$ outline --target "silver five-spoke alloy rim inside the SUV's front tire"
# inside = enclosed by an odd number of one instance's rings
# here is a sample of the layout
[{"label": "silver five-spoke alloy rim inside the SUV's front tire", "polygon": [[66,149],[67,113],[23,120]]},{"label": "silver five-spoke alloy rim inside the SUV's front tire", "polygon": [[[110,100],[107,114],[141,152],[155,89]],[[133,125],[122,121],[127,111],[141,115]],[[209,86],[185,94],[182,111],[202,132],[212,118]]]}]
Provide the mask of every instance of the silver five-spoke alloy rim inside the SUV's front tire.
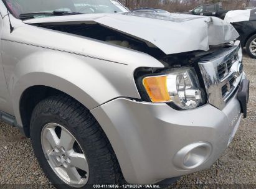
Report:
[{"label": "silver five-spoke alloy rim inside the SUV's front tire", "polygon": [[45,124],[41,144],[50,167],[62,181],[72,187],[83,187],[88,182],[85,153],[65,127],[53,122]]}]

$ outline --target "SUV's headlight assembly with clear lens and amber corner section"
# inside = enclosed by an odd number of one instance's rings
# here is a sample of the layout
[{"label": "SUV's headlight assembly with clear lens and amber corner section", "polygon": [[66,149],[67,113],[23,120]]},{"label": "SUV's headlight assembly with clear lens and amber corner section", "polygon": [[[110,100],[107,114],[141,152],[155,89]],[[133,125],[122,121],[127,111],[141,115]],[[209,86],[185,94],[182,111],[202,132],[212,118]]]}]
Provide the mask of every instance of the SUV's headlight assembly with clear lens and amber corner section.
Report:
[{"label": "SUV's headlight assembly with clear lens and amber corner section", "polygon": [[192,109],[206,101],[194,68],[174,68],[164,75],[146,76],[143,86],[154,103],[173,103],[180,109]]}]

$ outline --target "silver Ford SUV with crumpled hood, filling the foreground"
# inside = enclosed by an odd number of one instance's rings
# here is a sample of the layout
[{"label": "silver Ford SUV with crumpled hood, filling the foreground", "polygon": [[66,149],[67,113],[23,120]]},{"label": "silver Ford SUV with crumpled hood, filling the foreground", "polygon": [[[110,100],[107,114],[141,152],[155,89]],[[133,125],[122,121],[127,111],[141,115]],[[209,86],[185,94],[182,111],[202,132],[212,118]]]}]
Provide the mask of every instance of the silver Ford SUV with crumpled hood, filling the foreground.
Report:
[{"label": "silver Ford SUV with crumpled hood, filling the foreground", "polygon": [[209,168],[246,117],[239,35],[115,0],[0,2],[0,117],[59,188]]}]

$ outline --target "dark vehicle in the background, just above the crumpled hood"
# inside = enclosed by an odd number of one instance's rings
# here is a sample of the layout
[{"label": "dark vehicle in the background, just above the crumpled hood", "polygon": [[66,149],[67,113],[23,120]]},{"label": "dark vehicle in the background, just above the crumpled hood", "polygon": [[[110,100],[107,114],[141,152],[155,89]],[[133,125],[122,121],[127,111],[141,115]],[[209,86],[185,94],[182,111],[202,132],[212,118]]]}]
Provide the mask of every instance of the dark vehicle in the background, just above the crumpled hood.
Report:
[{"label": "dark vehicle in the background, just above the crumpled hood", "polygon": [[225,14],[227,13],[227,10],[222,9],[221,4],[204,4],[201,6],[198,6],[191,11],[189,11],[188,14],[194,14],[194,15],[201,15],[201,16],[216,16],[220,19],[224,19]]}]

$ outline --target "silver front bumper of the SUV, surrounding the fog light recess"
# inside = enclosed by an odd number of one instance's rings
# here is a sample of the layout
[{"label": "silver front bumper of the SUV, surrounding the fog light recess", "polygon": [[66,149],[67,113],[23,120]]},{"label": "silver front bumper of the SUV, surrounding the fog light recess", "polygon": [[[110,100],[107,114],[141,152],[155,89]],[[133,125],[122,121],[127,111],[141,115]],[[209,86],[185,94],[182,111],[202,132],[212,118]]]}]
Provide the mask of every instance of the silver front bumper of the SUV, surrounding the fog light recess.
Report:
[{"label": "silver front bumper of the SUV, surrounding the fog light recess", "polygon": [[[211,167],[232,141],[241,119],[237,94],[222,111],[210,104],[176,111],[165,103],[118,98],[91,112],[107,134],[126,181],[141,184]],[[176,154],[198,142],[210,146],[206,162],[189,169],[178,166]]]}]

